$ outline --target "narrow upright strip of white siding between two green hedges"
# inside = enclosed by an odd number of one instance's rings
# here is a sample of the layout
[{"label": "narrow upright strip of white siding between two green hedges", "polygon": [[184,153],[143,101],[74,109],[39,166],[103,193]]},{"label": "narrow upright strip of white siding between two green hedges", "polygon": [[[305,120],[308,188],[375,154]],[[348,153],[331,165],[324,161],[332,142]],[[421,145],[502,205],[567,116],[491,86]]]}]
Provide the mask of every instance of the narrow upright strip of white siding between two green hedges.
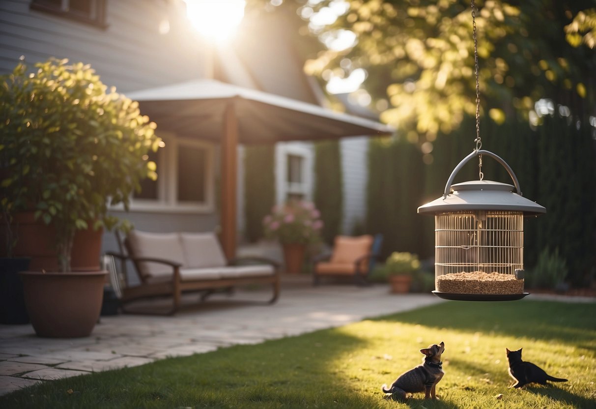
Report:
[{"label": "narrow upright strip of white siding between two green hedges", "polygon": [[364,222],[367,210],[368,138],[340,142],[343,173],[343,234],[351,234],[356,221]]}]

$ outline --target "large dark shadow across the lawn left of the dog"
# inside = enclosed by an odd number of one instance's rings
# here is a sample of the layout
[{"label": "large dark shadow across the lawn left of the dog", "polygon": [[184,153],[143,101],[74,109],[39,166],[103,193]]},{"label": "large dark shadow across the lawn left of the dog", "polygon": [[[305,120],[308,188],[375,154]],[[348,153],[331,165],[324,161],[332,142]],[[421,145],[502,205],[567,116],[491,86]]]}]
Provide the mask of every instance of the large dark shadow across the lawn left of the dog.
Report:
[{"label": "large dark shadow across the lawn left of the dog", "polygon": [[334,368],[366,344],[340,331],[316,331],[45,382],[0,396],[0,407],[378,407],[380,393],[353,388]]}]

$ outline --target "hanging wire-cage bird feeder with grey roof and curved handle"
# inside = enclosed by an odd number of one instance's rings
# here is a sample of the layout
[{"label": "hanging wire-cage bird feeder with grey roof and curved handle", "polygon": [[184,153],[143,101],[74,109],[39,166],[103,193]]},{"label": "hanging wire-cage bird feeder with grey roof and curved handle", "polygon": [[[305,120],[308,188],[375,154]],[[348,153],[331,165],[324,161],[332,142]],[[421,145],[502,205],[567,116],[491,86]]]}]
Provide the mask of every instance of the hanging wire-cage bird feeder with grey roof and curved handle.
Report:
[{"label": "hanging wire-cage bird feeder with grey roof and curved handle", "polygon": [[[452,184],[470,159],[490,156],[514,185],[482,179]],[[474,150],[449,176],[443,197],[418,207],[434,214],[435,286],[433,293],[451,300],[517,300],[524,292],[523,219],[545,213],[522,197],[510,166],[486,150]]]}]

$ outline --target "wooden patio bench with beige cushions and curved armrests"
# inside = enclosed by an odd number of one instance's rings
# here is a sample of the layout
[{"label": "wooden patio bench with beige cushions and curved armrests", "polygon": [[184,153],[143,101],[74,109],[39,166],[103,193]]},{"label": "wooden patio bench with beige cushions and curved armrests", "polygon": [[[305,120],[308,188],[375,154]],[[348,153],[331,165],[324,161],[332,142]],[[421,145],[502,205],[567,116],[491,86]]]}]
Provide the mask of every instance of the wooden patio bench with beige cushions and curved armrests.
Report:
[{"label": "wooden patio bench with beige cushions and curved armrests", "polygon": [[[269,303],[280,293],[280,269],[276,262],[259,257],[226,260],[213,233],[147,233],[132,230],[123,240],[121,253],[108,255],[125,265],[132,261],[141,283],[126,285],[120,303],[154,296],[172,296],[174,314],[181,308],[182,293],[203,292],[203,301],[221,289],[249,284],[271,284]],[[126,253],[126,254],[125,254]],[[258,264],[255,264],[258,263]],[[128,283],[128,280],[127,280]]]}]

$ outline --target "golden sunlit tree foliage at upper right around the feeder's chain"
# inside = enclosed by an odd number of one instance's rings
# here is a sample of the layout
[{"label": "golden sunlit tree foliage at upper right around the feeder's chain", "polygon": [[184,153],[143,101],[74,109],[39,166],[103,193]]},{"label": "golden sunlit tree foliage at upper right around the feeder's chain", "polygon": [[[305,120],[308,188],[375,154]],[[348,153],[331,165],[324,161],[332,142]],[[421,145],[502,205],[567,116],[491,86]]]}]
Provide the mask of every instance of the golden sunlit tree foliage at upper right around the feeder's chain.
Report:
[{"label": "golden sunlit tree foliage at upper right around the feeder's chain", "polygon": [[[331,2],[321,1],[315,9]],[[596,54],[572,47],[565,33],[570,24],[567,30],[576,33],[592,27],[593,15],[582,12],[590,6],[593,0],[478,1],[482,113],[496,123],[516,114],[527,121],[540,98],[570,106],[582,119],[592,112]],[[373,100],[388,103],[381,118],[409,132],[409,140],[434,141],[475,113],[470,2],[350,0],[349,11],[322,33],[338,29],[352,30],[355,45],[322,52],[306,68],[319,76],[326,70],[347,76],[366,69],[365,88]],[[586,43],[592,34],[593,29],[583,36]]]}]

